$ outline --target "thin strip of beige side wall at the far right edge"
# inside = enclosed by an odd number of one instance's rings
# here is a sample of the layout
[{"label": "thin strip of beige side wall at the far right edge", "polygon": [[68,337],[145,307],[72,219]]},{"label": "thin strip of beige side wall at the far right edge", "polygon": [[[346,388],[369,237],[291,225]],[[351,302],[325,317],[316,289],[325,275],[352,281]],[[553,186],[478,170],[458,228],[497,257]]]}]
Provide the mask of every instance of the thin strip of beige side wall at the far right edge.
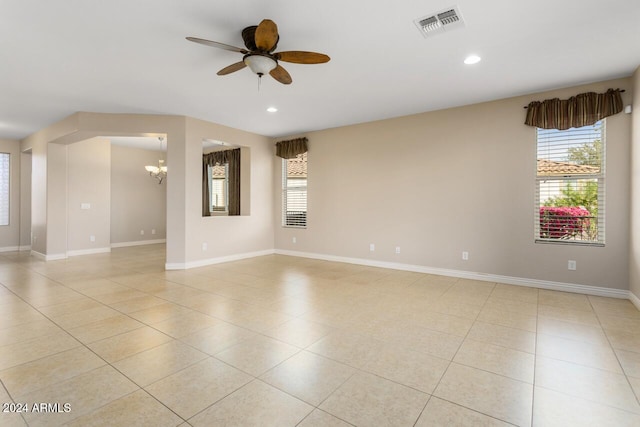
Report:
[{"label": "thin strip of beige side wall at the far right edge", "polygon": [[[633,99],[640,100],[640,67],[633,74]],[[633,105],[631,138],[631,228],[629,290],[640,308],[640,104]]]}]

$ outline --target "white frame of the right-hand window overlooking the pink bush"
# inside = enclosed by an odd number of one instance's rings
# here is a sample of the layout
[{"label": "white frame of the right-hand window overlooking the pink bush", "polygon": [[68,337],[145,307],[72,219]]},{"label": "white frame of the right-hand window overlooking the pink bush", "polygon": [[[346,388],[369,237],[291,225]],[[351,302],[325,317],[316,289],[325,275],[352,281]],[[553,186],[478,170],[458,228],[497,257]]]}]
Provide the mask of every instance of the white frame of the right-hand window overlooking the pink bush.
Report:
[{"label": "white frame of the right-hand window overlooking the pink bush", "polygon": [[[570,128],[567,130],[560,130],[557,132],[567,132],[566,141],[570,141],[571,137],[577,138],[583,132],[585,128],[593,129],[595,126],[600,126],[600,135],[598,137],[591,137],[592,143],[600,140],[600,165],[599,171],[597,173],[563,173],[561,175],[544,175],[540,174],[538,170],[538,161],[539,160],[549,160],[542,158],[540,156],[539,150],[541,145],[540,132],[541,131],[549,131],[548,129],[536,128],[536,173],[535,173],[535,200],[534,200],[534,242],[541,244],[559,244],[559,245],[577,245],[577,246],[594,246],[594,247],[604,247],[606,244],[606,235],[605,235],[605,201],[606,201],[606,119],[602,119],[596,122],[593,125],[583,126],[580,128]],[[569,134],[569,132],[576,132],[574,135]],[[586,132],[586,131],[585,131]],[[547,142],[549,143],[549,142]],[[564,143],[563,143],[564,144]],[[584,144],[586,145],[586,143]],[[582,146],[584,146],[582,145]],[[579,148],[579,144],[566,143],[567,150],[569,147]],[[570,163],[570,162],[567,162]],[[570,185],[570,183],[584,183],[585,187],[588,182],[596,182],[597,185],[597,209],[598,212],[592,219],[592,221],[597,221],[596,228],[596,239],[595,240],[581,240],[577,238],[552,238],[552,237],[541,237],[541,222],[540,222],[540,209],[545,206],[544,202],[541,201],[541,184],[546,182],[557,182],[558,188],[565,188],[566,185]],[[562,190],[560,190],[562,191]],[[577,206],[576,206],[577,207]],[[568,221],[568,220],[567,220]]]}]

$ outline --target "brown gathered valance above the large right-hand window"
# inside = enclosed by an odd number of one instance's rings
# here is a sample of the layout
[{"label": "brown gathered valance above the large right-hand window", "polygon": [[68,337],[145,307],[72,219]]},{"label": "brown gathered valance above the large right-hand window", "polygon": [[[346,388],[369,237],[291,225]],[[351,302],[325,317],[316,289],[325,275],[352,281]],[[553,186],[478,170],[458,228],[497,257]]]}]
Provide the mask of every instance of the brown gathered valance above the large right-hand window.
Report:
[{"label": "brown gathered valance above the large right-hand window", "polygon": [[533,101],[527,106],[524,124],[559,130],[589,126],[622,111],[620,92],[620,89],[609,89],[606,93],[587,92],[569,99]]}]

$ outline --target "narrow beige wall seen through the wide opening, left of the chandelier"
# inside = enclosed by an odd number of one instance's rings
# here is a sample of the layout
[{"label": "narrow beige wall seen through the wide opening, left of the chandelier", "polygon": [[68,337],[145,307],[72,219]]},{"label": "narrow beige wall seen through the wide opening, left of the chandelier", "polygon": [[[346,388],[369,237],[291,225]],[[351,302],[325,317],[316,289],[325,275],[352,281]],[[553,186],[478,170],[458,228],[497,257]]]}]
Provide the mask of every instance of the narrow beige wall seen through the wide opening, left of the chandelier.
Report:
[{"label": "narrow beige wall seen through the wide opening, left of the chandelier", "polygon": [[[109,140],[92,138],[68,145],[67,163],[67,253],[110,250]],[[82,209],[83,204],[89,209]]]}]

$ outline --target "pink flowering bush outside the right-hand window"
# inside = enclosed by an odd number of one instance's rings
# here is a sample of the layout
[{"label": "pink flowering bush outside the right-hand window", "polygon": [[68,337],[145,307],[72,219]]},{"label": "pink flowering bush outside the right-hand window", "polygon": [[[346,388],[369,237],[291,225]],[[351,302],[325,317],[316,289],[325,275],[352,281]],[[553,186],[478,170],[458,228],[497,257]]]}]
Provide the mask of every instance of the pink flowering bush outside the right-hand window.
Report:
[{"label": "pink flowering bush outside the right-hand window", "polygon": [[543,239],[571,239],[588,232],[591,214],[577,206],[541,206],[540,237]]}]

